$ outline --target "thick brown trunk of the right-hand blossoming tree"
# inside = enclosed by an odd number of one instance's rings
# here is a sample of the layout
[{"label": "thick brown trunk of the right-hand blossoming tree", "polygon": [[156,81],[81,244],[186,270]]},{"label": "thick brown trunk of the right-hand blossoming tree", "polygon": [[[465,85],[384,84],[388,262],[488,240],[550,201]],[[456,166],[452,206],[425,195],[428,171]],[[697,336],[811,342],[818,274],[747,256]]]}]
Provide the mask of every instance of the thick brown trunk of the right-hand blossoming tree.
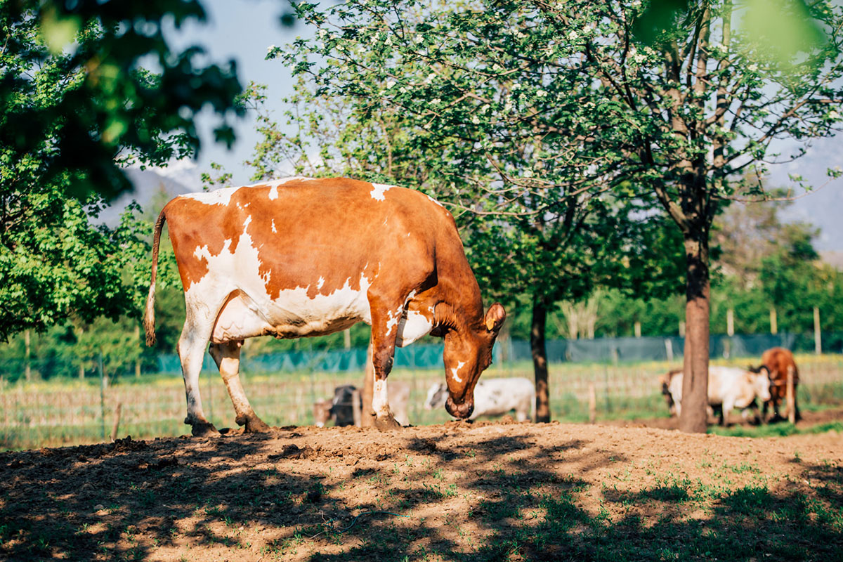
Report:
[{"label": "thick brown trunk of the right-hand blossoming tree", "polygon": [[705,433],[708,404],[708,338],[711,285],[704,229],[685,234],[688,270],[685,302],[685,376],[679,431]]}]

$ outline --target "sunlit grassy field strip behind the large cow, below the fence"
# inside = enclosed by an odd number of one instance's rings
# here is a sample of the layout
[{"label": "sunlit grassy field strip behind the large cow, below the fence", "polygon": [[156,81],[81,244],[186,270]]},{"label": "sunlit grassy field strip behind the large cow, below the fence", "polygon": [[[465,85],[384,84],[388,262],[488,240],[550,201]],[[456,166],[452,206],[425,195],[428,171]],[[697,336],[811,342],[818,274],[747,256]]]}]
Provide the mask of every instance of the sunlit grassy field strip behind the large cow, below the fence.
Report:
[{"label": "sunlit grassy field strip behind the large cow, below the fence", "polygon": [[[745,366],[749,360],[712,361]],[[797,356],[802,383],[798,388],[804,411],[843,405],[843,356]],[[667,418],[658,376],[678,367],[666,361],[636,364],[555,363],[550,365],[552,419],[588,420],[589,388],[594,389],[597,420]],[[529,362],[495,365],[483,377],[528,377]],[[357,373],[293,373],[243,375],[255,411],[271,426],[308,426],[313,423],[311,404],[328,398],[339,384],[362,384]],[[436,370],[395,370],[389,380],[411,385],[410,420],[414,426],[450,420],[444,409],[423,409],[427,388],[444,381]],[[203,404],[219,428],[234,425],[234,410],[217,372],[201,375]],[[117,436],[133,438],[179,436],[189,427],[181,377],[122,378],[107,388],[99,379],[59,379],[42,383],[0,380],[0,450],[78,445],[108,440],[120,405]],[[670,427],[668,420],[651,425]]]}]

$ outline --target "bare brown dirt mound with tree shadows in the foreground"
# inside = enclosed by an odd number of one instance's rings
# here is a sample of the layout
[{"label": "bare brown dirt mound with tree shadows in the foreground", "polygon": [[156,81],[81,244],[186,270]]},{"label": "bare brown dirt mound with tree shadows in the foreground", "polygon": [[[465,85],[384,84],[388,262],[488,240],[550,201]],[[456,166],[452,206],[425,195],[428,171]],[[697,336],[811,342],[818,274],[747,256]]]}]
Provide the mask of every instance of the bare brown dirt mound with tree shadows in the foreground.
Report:
[{"label": "bare brown dirt mound with tree shadows in the foreground", "polygon": [[840,434],[626,425],[284,427],[0,453],[0,559],[843,559]]}]

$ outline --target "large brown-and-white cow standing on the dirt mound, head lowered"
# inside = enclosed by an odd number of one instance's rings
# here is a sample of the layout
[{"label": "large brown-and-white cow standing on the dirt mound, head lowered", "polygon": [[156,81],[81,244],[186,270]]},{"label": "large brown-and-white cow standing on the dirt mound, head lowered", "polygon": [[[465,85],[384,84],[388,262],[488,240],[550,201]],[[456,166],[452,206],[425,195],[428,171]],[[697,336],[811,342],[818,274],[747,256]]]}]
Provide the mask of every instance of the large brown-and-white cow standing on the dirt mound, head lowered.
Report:
[{"label": "large brown-and-white cow standing on the dirt mound, head lowered", "polygon": [[210,353],[245,431],[266,431],[239,381],[245,338],[325,335],[372,326],[373,410],[398,427],[386,377],[395,346],[445,340],[446,408],[467,418],[506,313],[483,313],[454,218],[418,191],[354,179],[290,178],[180,195],[155,222],[143,324],[155,341],[155,276],[164,222],[185,289],[178,351],[194,435],[217,434],[202,410],[199,372]]}]

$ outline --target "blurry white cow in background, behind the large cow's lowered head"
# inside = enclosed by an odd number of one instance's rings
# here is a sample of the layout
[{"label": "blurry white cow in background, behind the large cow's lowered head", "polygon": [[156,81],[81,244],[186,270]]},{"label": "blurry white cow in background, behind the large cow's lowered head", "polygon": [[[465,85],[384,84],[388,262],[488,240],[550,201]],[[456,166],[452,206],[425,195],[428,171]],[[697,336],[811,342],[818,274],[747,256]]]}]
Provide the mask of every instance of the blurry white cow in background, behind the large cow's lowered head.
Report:
[{"label": "blurry white cow in background, behind the large cow's lowered head", "polygon": [[[434,384],[427,391],[425,409],[439,408],[448,398],[444,384]],[[475,410],[470,415],[475,420],[481,415],[504,415],[515,410],[518,421],[528,420],[535,399],[535,387],[527,378],[487,378],[475,386]]]}]

